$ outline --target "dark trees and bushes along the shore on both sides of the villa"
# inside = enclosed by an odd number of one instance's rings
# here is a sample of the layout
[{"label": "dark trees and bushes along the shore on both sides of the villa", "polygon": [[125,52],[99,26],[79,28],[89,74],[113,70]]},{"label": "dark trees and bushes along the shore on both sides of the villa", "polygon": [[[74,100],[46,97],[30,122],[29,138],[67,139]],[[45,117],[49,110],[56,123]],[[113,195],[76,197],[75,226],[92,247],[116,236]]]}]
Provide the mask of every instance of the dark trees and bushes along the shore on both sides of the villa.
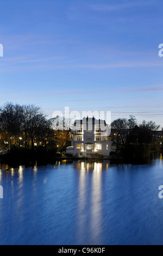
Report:
[{"label": "dark trees and bushes along the shore on both sides of the villa", "polygon": [[[78,160],[66,155],[71,145],[71,130],[60,130],[58,118],[47,119],[40,107],[5,103],[0,108],[0,163],[42,164],[56,160]],[[66,123],[67,120],[63,120]],[[92,160],[111,163],[148,163],[162,153],[163,131],[153,121],[137,124],[136,118],[119,118],[111,123],[111,141],[116,151],[108,158],[102,154]],[[87,158],[80,158],[86,160]]]}]

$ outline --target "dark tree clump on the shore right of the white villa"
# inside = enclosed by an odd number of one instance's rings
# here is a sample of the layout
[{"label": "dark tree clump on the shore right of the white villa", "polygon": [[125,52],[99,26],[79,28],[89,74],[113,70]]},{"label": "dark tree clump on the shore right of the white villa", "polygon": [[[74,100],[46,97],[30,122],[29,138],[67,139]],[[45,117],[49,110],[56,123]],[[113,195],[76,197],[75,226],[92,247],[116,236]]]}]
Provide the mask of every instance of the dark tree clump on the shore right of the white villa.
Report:
[{"label": "dark tree clump on the shore right of the white villa", "polygon": [[130,115],[112,122],[112,140],[116,144],[116,152],[112,160],[129,163],[147,162],[151,153],[162,150],[163,132],[153,121],[137,124],[136,118]]}]

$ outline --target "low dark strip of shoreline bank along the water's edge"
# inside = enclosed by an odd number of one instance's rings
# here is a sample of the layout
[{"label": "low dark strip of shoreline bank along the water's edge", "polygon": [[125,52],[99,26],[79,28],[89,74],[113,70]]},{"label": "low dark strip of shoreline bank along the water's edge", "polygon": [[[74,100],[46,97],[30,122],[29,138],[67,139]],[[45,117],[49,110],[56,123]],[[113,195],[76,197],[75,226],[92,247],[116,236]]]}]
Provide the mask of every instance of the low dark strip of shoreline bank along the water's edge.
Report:
[{"label": "low dark strip of shoreline bank along the water's edge", "polygon": [[[154,159],[159,159],[160,155],[162,155],[159,151],[153,151],[150,155],[146,158],[131,161],[123,159],[121,155],[115,154],[113,157],[74,157],[74,156],[66,156],[60,154],[49,154],[45,151],[37,151],[33,153],[32,151],[28,151],[24,154],[24,151],[17,151],[14,150],[11,153],[7,153],[5,155],[0,155],[0,164],[8,164],[11,167],[17,167],[20,165],[24,166],[31,166],[37,163],[39,166],[47,165],[47,164],[54,164],[57,161],[66,160],[67,162],[72,161],[94,161],[94,162],[103,162],[103,161],[110,161],[111,164],[149,164]],[[162,157],[162,156],[161,156]]]}]

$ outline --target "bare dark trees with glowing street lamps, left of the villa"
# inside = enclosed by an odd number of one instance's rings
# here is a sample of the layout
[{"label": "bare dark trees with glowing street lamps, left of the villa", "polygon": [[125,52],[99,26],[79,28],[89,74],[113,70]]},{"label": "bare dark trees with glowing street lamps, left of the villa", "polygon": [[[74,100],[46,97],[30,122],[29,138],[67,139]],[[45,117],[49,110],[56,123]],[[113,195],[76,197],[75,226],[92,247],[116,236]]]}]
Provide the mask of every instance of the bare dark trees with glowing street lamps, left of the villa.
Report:
[{"label": "bare dark trees with glowing street lamps, left of the villa", "polygon": [[52,159],[70,145],[69,132],[54,131],[53,126],[54,119],[48,120],[40,107],[6,103],[0,108],[1,153],[11,160]]}]

